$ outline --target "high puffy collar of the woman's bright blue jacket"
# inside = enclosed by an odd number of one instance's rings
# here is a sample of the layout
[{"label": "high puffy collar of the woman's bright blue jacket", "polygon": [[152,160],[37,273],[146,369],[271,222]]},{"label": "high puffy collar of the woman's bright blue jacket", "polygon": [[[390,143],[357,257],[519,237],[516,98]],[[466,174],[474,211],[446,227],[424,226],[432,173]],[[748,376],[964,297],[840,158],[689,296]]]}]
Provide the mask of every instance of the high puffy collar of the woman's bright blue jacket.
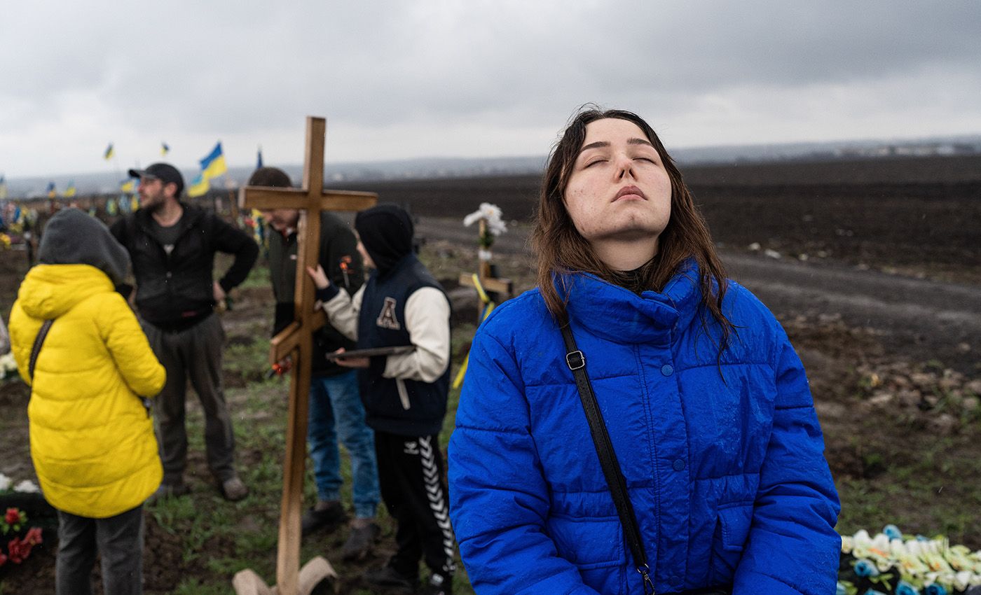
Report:
[{"label": "high puffy collar of the woman's bright blue jacket", "polygon": [[573,327],[628,343],[669,340],[676,325],[685,327],[692,321],[701,300],[694,261],[686,262],[661,292],[637,295],[590,273],[556,275],[555,287],[559,297],[568,296],[566,309]]}]

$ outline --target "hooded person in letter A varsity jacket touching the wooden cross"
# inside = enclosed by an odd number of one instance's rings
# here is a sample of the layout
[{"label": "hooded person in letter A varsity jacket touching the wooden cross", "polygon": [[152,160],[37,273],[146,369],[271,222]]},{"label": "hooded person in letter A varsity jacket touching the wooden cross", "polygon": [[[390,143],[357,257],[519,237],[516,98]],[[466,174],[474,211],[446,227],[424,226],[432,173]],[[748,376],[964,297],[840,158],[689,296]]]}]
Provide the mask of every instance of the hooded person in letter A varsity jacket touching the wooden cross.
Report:
[{"label": "hooded person in letter A varsity jacket touching the wooden cross", "polygon": [[[397,551],[364,579],[397,592],[452,592],[454,539],[448,518],[439,430],[449,391],[450,307],[439,282],[413,253],[413,225],[394,205],[362,211],[354,220],[358,251],[374,269],[354,294],[330,282],[323,268],[307,269],[331,323],[358,349],[411,346],[370,358],[338,358],[361,369],[361,396],[375,430],[382,499],[397,521]],[[429,581],[415,589],[419,559]]]}]

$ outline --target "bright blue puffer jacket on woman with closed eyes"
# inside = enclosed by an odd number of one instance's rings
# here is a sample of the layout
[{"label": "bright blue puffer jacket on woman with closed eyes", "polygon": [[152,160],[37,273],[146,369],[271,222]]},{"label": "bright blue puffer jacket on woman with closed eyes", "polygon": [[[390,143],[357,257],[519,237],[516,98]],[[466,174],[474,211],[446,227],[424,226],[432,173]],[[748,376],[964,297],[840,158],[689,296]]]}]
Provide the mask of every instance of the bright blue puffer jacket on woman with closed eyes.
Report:
[{"label": "bright blue puffer jacket on woman with closed eyes", "polygon": [[[800,359],[769,311],[731,282],[724,312],[738,335],[717,361],[694,268],[641,296],[568,281],[657,593],[729,582],[738,595],[834,593],[838,495]],[[449,493],[481,595],[644,592],[564,355],[538,290],[474,340]]]}]

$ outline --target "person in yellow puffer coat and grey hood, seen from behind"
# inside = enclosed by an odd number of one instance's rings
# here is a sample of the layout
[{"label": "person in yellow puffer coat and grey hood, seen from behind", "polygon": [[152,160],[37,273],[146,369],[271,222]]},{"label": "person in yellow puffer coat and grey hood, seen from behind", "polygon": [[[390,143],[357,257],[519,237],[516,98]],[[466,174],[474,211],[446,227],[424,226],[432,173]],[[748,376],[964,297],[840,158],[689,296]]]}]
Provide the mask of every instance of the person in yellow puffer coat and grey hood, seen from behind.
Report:
[{"label": "person in yellow puffer coat and grey hood, seen from behind", "polygon": [[[129,257],[103,223],[77,209],[59,212],[38,257],[10,331],[31,385],[34,471],[58,510],[57,592],[91,592],[82,585],[99,553],[107,593],[140,593],[143,502],[163,476],[140,397],[157,394],[166,372],[114,288]],[[47,334],[37,339],[45,321],[52,321]]]}]

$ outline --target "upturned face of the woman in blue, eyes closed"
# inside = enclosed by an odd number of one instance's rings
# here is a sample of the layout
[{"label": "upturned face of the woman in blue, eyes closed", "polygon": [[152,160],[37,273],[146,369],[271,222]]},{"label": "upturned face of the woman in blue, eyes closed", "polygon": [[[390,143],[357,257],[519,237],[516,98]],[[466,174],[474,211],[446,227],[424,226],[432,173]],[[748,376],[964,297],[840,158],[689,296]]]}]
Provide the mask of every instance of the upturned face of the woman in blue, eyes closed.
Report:
[{"label": "upturned face of the woman in blue, eyes closed", "polygon": [[576,229],[599,257],[610,250],[657,250],[657,236],[671,216],[671,179],[644,131],[607,118],[586,126],[573,162],[565,207]]}]

